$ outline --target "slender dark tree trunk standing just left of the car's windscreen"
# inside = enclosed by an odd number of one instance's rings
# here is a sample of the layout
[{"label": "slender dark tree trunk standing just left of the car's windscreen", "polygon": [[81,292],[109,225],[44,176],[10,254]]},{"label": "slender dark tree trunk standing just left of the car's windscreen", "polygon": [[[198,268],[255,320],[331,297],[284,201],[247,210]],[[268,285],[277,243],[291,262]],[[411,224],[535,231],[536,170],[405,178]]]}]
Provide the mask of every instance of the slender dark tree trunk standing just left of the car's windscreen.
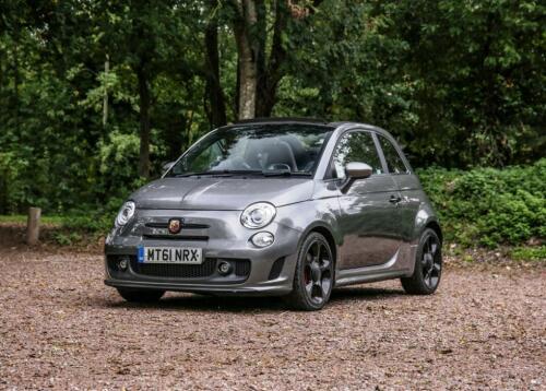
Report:
[{"label": "slender dark tree trunk standing just left of the car's windscreen", "polygon": [[150,178],[150,82],[145,67],[141,63],[136,70],[140,99],[140,158],[139,175]]}]

